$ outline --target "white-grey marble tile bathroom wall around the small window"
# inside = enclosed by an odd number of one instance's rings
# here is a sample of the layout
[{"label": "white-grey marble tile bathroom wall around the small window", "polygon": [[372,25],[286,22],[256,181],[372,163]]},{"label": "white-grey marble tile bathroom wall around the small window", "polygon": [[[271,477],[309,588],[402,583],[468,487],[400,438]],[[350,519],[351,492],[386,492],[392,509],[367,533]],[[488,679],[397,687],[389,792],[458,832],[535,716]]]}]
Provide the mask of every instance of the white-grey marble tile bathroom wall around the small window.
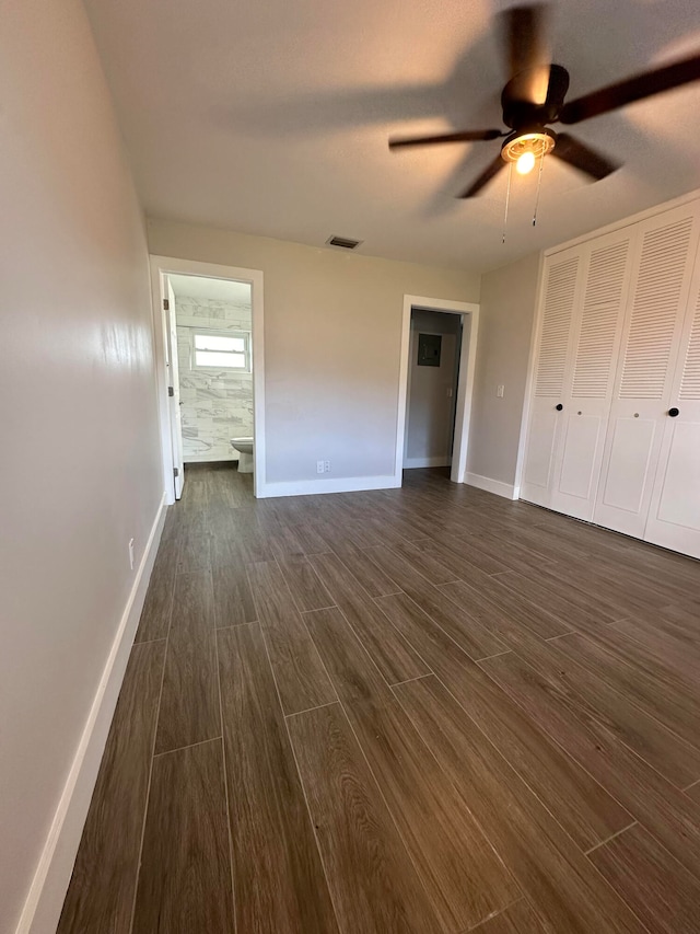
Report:
[{"label": "white-grey marble tile bathroom wall around the small window", "polygon": [[191,348],[197,331],[250,331],[250,307],[177,296],[175,319],[185,463],[234,460],[231,438],[253,435],[253,376],[194,370]]}]

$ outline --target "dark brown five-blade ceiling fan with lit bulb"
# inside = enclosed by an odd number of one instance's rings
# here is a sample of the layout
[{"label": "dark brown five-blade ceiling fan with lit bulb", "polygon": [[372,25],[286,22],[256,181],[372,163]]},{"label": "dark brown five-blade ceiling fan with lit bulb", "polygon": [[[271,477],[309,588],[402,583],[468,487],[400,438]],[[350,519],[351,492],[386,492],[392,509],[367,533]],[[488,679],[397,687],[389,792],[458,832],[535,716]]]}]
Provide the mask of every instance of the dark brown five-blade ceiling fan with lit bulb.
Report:
[{"label": "dark brown five-blade ceiling fan with lit bulb", "polygon": [[478,194],[509,163],[514,163],[521,174],[526,174],[534,169],[537,160],[549,153],[580,169],[593,181],[605,178],[621,163],[591,149],[568,132],[556,132],[550,125],[579,124],[700,79],[700,55],[693,55],[564,102],[569,72],[551,61],[547,7],[540,3],[514,7],[504,11],[502,18],[510,78],[501,93],[501,106],[503,123],[510,130],[463,130],[389,140],[389,149],[394,150],[505,137],[499,155],[458,196],[460,198]]}]

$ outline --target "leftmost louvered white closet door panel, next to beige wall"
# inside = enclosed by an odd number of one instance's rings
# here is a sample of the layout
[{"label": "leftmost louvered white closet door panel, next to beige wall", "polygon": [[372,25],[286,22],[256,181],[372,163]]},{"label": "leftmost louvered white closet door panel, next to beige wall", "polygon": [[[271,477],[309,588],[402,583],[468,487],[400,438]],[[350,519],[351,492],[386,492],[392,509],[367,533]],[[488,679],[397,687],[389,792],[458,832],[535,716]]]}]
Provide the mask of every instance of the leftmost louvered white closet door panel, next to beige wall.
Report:
[{"label": "leftmost louvered white closet door panel, next to beige wall", "polygon": [[571,357],[572,320],[582,280],[582,249],[549,256],[545,263],[541,330],[521,496],[550,506],[555,451],[561,437],[567,367]]}]

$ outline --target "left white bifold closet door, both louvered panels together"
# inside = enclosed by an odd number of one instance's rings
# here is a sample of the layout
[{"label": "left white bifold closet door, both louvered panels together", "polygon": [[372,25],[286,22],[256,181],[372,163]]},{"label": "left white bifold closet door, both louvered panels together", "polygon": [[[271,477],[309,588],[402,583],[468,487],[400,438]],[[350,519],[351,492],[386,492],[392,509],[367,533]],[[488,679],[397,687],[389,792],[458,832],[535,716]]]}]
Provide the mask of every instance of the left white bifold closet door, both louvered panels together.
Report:
[{"label": "left white bifold closet door, both louvered panels together", "polygon": [[629,231],[557,254],[546,272],[522,496],[591,520],[630,278]]}]

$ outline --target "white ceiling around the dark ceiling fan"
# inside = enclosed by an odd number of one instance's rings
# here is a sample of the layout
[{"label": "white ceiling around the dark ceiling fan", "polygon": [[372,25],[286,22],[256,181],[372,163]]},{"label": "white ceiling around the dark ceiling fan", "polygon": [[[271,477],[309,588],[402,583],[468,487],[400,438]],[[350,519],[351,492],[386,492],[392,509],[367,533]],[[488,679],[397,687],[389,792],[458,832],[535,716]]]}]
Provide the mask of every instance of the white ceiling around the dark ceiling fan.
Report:
[{"label": "white ceiling around the dark ceiling fan", "polygon": [[[588,184],[545,162],[454,195],[498,152],[390,153],[389,135],[501,126],[502,56],[485,0],[85,0],[137,184],[153,217],[471,270],[700,187],[700,83],[573,128],[625,166]],[[562,0],[569,99],[700,49],[698,0]],[[327,247],[330,249],[330,247]]]}]

